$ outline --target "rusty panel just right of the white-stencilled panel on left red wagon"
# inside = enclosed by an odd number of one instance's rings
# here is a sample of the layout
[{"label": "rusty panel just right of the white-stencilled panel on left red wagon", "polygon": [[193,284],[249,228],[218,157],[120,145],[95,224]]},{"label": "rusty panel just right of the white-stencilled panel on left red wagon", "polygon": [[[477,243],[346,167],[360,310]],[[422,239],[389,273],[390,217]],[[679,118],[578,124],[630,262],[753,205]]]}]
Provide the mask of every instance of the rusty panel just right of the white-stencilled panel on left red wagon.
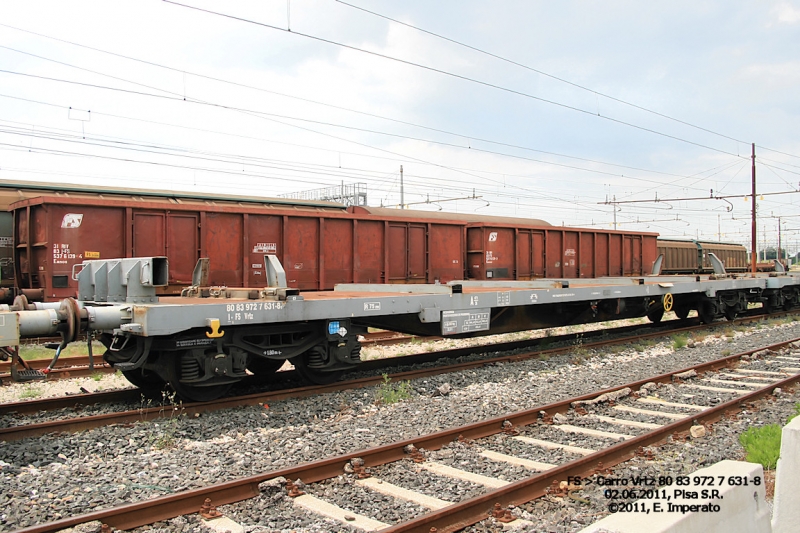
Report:
[{"label": "rusty panel just right of the white-stencilled panel on left red wagon", "polygon": [[288,238],[283,268],[290,287],[302,290],[319,288],[319,221],[319,218],[286,218]]}]

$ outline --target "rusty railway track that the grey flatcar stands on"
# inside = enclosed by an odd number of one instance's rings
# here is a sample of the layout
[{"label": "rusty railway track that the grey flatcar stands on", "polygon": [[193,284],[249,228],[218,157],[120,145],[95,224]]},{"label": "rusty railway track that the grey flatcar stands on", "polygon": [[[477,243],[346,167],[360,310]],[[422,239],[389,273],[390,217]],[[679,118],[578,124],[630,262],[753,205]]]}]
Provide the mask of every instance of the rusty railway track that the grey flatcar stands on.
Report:
[{"label": "rusty railway track that the grey flatcar stands on", "polygon": [[[740,324],[761,319],[763,317],[750,317],[738,319]],[[673,322],[670,324],[670,322]],[[373,375],[359,377],[346,381],[333,383],[330,385],[310,385],[291,388],[278,388],[267,392],[256,392],[215,400],[213,402],[192,402],[180,403],[179,409],[182,415],[199,416],[202,413],[230,409],[235,407],[269,404],[274,401],[289,398],[302,398],[316,394],[351,390],[363,387],[380,385],[385,382],[386,377],[398,382],[403,380],[414,380],[438,374],[451,373],[467,370],[470,368],[481,367],[491,364],[510,363],[523,361],[534,357],[549,357],[552,355],[566,353],[575,349],[575,342],[580,341],[582,349],[599,349],[614,344],[624,344],[627,342],[642,339],[659,338],[666,335],[690,333],[697,330],[709,328],[708,325],[696,323],[696,321],[670,321],[662,323],[657,331],[652,331],[652,325],[624,326],[612,330],[596,330],[585,333],[573,333],[558,337],[547,337],[545,339],[528,339],[507,343],[491,345],[492,352],[503,353],[515,350],[527,350],[512,355],[498,355],[481,357],[469,361],[460,361],[436,367],[418,368],[414,370],[383,374],[383,371],[392,368],[404,367],[406,365],[420,365],[434,362],[441,359],[458,359],[476,353],[475,347],[456,348],[434,353],[424,353],[395,357],[390,359],[379,359],[366,361],[358,369],[359,373],[370,372]],[[686,325],[687,322],[690,325]],[[694,323],[693,323],[694,322]],[[666,326],[666,329],[665,327]],[[593,340],[594,339],[594,340]],[[558,347],[542,349],[542,344],[556,344]],[[485,346],[483,347],[485,348]],[[531,349],[533,348],[533,349]],[[377,373],[376,373],[377,372]],[[286,376],[281,381],[289,383],[300,380],[293,371],[284,371]],[[119,403],[122,411],[111,413],[87,414],[87,407],[94,404]],[[152,392],[149,397],[145,397],[140,389],[124,389],[116,391],[106,391],[97,393],[86,393],[65,397],[43,398],[40,400],[28,400],[20,402],[9,402],[0,404],[0,416],[22,416],[35,414],[41,416],[42,413],[61,411],[67,412],[67,416],[58,416],[52,420],[41,422],[25,423],[24,421],[9,427],[0,428],[0,441],[13,441],[29,437],[37,437],[52,432],[67,431],[75,432],[86,429],[103,427],[112,424],[130,424],[146,420],[154,420],[162,417],[174,415],[174,400],[165,397],[161,393]],[[126,409],[125,406],[134,405],[133,409]]]}]

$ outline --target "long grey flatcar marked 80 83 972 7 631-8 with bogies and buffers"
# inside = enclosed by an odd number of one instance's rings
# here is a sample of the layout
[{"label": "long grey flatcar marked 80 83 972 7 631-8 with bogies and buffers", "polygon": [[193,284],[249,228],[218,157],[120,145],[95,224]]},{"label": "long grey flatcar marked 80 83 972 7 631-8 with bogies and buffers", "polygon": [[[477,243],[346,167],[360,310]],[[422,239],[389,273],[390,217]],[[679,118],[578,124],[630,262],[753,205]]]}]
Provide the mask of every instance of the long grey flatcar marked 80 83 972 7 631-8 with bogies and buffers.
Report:
[{"label": "long grey flatcar marked 80 83 972 7 631-8 with bogies and buffers", "polygon": [[[91,270],[85,268],[78,276],[85,280]],[[133,283],[135,268],[126,275]],[[125,304],[92,301],[107,295],[106,287],[94,294],[82,289],[87,301],[57,310],[0,313],[0,345],[18,343],[20,333],[63,332],[65,324],[65,339],[78,330],[102,329],[109,363],[168,381],[176,389],[188,387],[191,395],[238,381],[246,369],[271,368],[267,363],[286,359],[317,377],[334,375],[359,362],[358,335],[367,327],[471,337],[642,316],[660,320],[671,308],[679,315],[696,309],[703,321],[711,322],[732,318],[749,303],[800,304],[800,276],[351,284],[310,293],[217,287],[195,288],[191,297],[162,297],[157,303],[137,303],[151,301],[154,288],[152,296],[144,297],[141,287],[132,291],[129,284],[128,291],[130,302]],[[200,394],[203,399],[213,396]]]}]

